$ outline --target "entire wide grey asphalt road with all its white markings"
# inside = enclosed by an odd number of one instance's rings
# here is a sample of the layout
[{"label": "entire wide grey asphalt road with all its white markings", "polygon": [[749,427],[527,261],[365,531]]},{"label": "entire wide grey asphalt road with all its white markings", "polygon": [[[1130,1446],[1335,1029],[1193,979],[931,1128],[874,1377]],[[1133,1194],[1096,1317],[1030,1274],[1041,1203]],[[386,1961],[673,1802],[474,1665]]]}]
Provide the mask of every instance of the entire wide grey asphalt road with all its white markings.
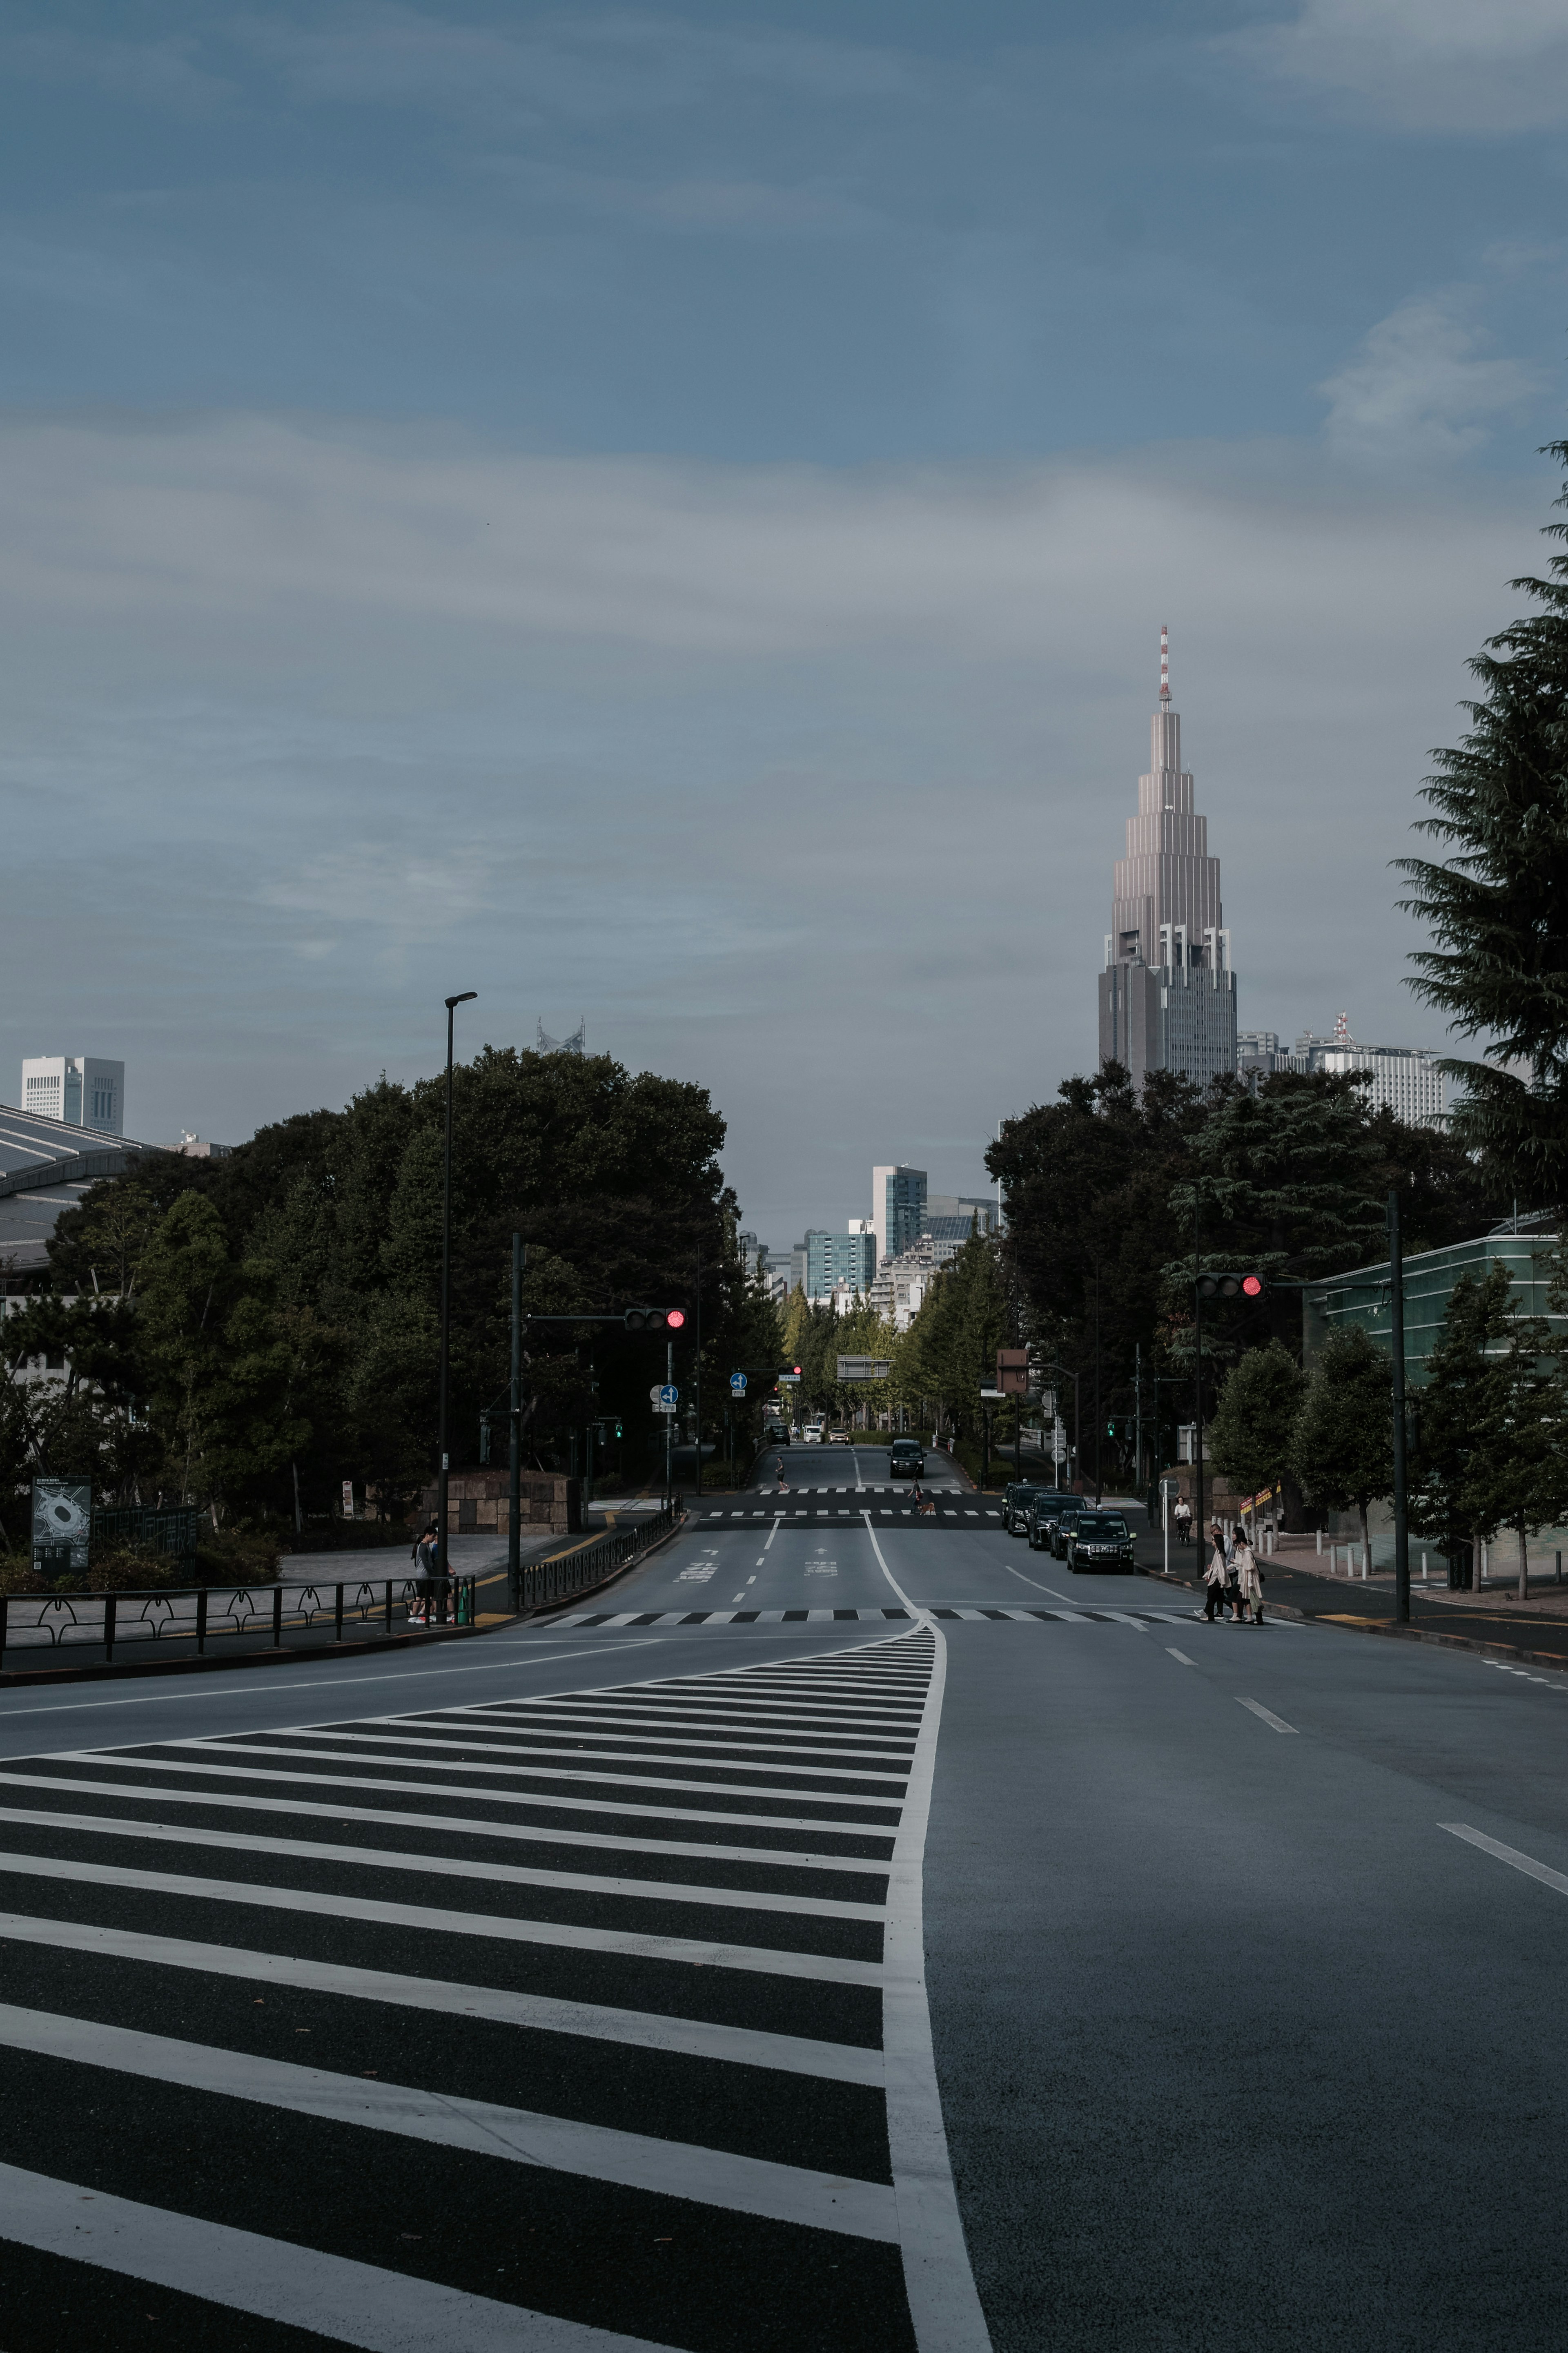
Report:
[{"label": "entire wide grey asphalt road with all its white markings", "polygon": [[7,2353],[1563,2341],[1568,1675],[820,1459],[550,1626],[0,1694]]}]

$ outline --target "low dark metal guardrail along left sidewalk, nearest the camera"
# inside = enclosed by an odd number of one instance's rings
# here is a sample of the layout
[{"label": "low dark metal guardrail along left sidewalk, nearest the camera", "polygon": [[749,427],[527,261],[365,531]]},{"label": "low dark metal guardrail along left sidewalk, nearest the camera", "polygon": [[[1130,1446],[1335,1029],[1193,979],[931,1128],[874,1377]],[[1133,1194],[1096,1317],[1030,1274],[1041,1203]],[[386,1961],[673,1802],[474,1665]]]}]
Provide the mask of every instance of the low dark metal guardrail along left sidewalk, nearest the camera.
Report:
[{"label": "low dark metal guardrail along left sidewalk, nearest the camera", "polygon": [[[475,1624],[475,1579],[447,1579],[451,1626]],[[165,1649],[190,1642],[207,1657],[214,1642],[252,1649],[303,1649],[313,1640],[343,1640],[346,1626],[376,1628],[383,1640],[407,1631],[423,1595],[411,1577],[357,1577],[329,1584],[277,1586],[158,1586],[146,1593],[0,1593],[0,1664],[21,1666],[42,1654]]]}]

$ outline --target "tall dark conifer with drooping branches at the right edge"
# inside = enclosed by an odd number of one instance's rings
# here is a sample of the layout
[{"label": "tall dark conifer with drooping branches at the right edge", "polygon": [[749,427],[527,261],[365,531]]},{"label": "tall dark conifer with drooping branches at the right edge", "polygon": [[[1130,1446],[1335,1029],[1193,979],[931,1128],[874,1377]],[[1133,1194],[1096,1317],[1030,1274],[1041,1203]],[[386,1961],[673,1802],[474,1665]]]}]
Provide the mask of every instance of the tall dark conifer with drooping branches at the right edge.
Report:
[{"label": "tall dark conifer with drooping branches at the right edge", "polygon": [[[1568,442],[1547,454],[1568,466]],[[1547,579],[1509,584],[1535,609],[1472,659],[1472,727],[1422,788],[1418,831],[1450,854],[1399,861],[1401,906],[1436,941],[1413,958],[1415,993],[1488,1040],[1486,1061],[1450,1064],[1455,1136],[1533,1207],[1568,1193],[1568,525],[1544,536]]]}]

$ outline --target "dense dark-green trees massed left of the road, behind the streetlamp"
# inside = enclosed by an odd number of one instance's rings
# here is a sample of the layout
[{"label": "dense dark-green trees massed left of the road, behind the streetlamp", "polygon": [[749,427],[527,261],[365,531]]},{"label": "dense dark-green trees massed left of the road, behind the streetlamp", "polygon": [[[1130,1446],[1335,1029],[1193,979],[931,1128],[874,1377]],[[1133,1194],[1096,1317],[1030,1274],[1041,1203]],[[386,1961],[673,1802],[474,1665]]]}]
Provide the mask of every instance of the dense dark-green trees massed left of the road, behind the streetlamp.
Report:
[{"label": "dense dark-green trees massed left of the road, behind the streetlamp", "polygon": [[[49,1287],[5,1325],[0,1482],[94,1478],[103,1499],[193,1497],[214,1518],[320,1515],[353,1480],[400,1508],[435,1473],[444,1082],[386,1078],[346,1111],[263,1127],[228,1160],[174,1153],[61,1217]],[[609,1056],[487,1047],[454,1078],[451,1457],[510,1365],[510,1238],[538,1313],[701,1304],[703,1421],[722,1374],[778,1348],[736,1254],[724,1122],[703,1087]],[[677,1381],[691,1388],[691,1327]],[[571,1433],[621,1417],[625,1468],[651,1459],[665,1344],[618,1327],[534,1327],[527,1457],[567,1468]],[[498,1457],[505,1442],[498,1431]]]}]

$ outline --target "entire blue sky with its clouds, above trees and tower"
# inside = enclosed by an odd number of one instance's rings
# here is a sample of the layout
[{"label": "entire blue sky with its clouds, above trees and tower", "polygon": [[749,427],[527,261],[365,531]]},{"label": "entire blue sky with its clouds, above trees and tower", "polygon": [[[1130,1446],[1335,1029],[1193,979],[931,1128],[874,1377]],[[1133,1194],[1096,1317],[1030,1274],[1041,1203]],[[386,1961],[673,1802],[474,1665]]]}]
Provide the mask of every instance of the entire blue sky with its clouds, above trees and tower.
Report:
[{"label": "entire blue sky with its clouds, above trees and tower", "polygon": [[773,1242],[969,1191],[1093,1059],[1161,621],[1244,1021],[1436,1040],[1566,120],[1556,0],[14,5],[0,1052],[240,1136],[477,986],[708,1082]]}]

